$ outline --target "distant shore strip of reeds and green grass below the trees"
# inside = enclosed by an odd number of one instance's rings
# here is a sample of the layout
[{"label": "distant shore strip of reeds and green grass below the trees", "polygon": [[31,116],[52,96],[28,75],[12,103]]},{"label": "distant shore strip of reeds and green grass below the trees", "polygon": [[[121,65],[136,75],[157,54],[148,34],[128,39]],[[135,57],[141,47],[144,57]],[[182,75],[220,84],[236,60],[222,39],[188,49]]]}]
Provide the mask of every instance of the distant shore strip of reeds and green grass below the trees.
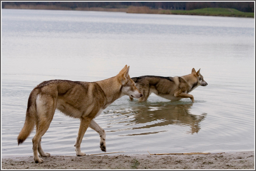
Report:
[{"label": "distant shore strip of reeds and green grass below the trees", "polygon": [[68,8],[61,6],[45,5],[5,5],[4,9],[51,9],[51,10],[73,10],[73,11],[108,11],[108,12],[126,12],[126,13],[144,13],[144,14],[178,14],[178,15],[195,15],[195,16],[224,16],[224,17],[246,17],[254,18],[253,12],[241,12],[233,8],[202,8],[194,10],[168,10],[168,9],[150,9],[149,7],[127,8]]}]

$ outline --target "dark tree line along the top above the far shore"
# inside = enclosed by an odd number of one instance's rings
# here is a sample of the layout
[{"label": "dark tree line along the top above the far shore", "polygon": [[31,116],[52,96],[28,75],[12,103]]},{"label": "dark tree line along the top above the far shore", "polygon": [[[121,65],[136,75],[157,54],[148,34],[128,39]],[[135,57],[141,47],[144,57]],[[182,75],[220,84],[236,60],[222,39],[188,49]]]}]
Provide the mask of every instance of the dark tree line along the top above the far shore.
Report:
[{"label": "dark tree line along the top above the far shore", "polygon": [[4,6],[58,6],[75,8],[128,8],[129,6],[135,7],[149,7],[150,9],[173,9],[173,10],[192,10],[200,8],[234,8],[242,12],[254,12],[254,2],[2,2]]}]

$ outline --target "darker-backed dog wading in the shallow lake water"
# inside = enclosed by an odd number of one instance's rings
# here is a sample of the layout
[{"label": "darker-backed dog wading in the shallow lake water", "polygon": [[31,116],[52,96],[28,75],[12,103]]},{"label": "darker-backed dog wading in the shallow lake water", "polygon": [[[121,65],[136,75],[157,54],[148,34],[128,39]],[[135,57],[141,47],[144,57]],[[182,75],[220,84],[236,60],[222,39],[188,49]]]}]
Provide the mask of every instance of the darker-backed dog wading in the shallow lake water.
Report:
[{"label": "darker-backed dog wading in the shallow lake water", "polygon": [[[171,101],[190,98],[195,102],[193,95],[188,93],[198,86],[207,86],[204,77],[200,74],[200,69],[196,72],[194,68],[191,74],[181,77],[141,76],[131,79],[143,94],[139,102],[145,102],[151,93]],[[133,100],[132,97],[130,99]]]}]

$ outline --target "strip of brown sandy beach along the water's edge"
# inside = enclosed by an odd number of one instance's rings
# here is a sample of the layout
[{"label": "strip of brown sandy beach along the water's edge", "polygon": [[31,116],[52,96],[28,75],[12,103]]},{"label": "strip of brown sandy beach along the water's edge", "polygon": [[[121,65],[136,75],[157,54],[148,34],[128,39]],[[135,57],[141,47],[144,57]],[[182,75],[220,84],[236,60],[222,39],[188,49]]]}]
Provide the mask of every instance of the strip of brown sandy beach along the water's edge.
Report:
[{"label": "strip of brown sandy beach along the water's edge", "polygon": [[221,154],[53,155],[41,164],[33,157],[3,157],[2,169],[255,169],[254,152]]}]

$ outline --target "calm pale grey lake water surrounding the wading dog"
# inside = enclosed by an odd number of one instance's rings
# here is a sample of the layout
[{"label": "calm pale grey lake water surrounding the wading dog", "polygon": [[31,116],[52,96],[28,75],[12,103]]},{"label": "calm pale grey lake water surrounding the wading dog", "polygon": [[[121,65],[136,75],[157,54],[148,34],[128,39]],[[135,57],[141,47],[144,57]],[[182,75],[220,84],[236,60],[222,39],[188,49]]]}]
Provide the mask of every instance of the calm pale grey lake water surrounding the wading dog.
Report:
[{"label": "calm pale grey lake water surrounding the wading dog", "polygon": [[[127,64],[130,76],[198,71],[208,83],[190,99],[117,99],[96,122],[107,152],[120,154],[254,150],[254,19],[121,12],[2,10],[2,155],[32,155],[17,145],[31,90],[50,79],[100,81]],[[56,111],[43,135],[51,155],[76,155],[80,120]],[[88,128],[82,152],[102,153]]]}]

